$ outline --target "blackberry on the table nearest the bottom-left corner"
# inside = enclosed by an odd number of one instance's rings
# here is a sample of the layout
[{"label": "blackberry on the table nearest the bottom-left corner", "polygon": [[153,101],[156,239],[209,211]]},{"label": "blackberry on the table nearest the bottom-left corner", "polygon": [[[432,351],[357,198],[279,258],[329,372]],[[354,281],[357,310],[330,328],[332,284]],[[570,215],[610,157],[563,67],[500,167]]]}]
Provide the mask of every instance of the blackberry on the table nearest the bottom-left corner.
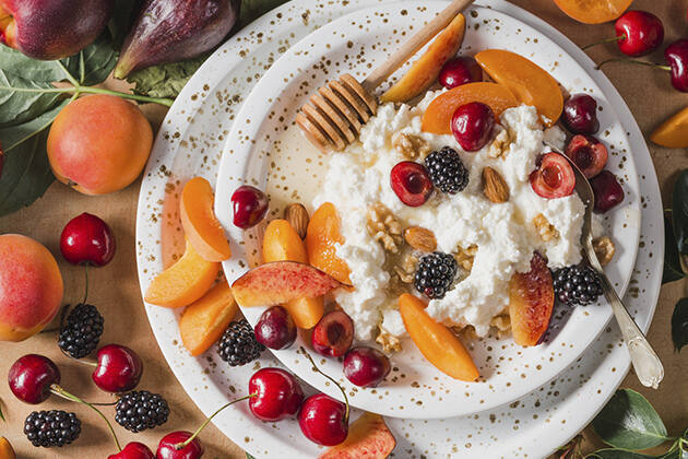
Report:
[{"label": "blackberry on the table nearest the bottom-left corner", "polygon": [[62,410],[34,411],[24,421],[24,434],[34,446],[64,446],[79,438],[81,421]]}]

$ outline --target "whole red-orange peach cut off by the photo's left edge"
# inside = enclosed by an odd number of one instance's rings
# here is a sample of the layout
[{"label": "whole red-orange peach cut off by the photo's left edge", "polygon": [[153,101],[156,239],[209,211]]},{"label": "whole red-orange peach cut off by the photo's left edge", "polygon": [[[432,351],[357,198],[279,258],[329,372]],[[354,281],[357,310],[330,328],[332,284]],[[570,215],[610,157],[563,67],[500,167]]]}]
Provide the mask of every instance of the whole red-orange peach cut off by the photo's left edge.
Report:
[{"label": "whole red-orange peach cut off by the photo's left edge", "polygon": [[44,329],[62,302],[52,254],[31,237],[0,236],[0,341],[22,341]]}]

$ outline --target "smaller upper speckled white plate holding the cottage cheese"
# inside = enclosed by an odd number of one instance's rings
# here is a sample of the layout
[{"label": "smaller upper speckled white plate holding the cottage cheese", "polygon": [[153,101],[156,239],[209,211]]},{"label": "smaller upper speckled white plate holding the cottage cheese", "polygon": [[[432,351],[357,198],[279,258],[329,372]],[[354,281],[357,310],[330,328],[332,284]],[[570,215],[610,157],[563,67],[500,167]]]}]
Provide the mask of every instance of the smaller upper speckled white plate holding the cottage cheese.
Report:
[{"label": "smaller upper speckled white plate holding the cottage cheese", "polygon": [[[371,64],[382,62],[399,46],[398,42],[405,39],[400,31],[407,31],[406,36],[413,34],[414,24],[418,27],[429,21],[443,4],[437,1],[381,4],[343,16],[289,48],[258,82],[227,136],[217,177],[215,213],[233,242],[233,257],[223,263],[229,282],[246,272],[247,260],[250,266],[260,263],[264,227],[244,232],[232,224],[233,191],[242,184],[269,190],[271,219],[281,217],[284,205],[295,200],[295,193],[299,197],[296,200],[309,205],[309,197],[328,186],[322,183],[325,169],[318,166],[327,165],[328,157],[298,134],[294,125],[297,108],[317,87],[340,73],[349,72],[363,80]],[[460,52],[512,50],[549,71],[569,92],[588,92],[597,101],[601,138],[610,146],[607,168],[625,181],[624,204],[607,213],[605,220],[606,234],[612,235],[617,247],[607,274],[622,294],[630,280],[640,235],[639,184],[632,157],[620,153],[628,151],[628,138],[612,105],[576,60],[523,22],[479,7],[471,9],[466,19]],[[252,307],[242,311],[254,325],[263,310]],[[576,308],[564,327],[555,326],[554,338],[534,348],[519,346],[511,338],[489,337],[466,342],[482,376],[477,382],[444,375],[410,340],[403,343],[402,352],[391,356],[393,370],[377,389],[349,384],[337,360],[319,362],[325,373],[340,380],[349,402],[357,408],[399,417],[464,415],[510,403],[554,378],[581,355],[610,315],[606,304]],[[312,372],[309,361],[297,353],[301,345],[310,349],[307,333],[290,349],[273,353],[300,378],[343,400],[340,390]]]}]

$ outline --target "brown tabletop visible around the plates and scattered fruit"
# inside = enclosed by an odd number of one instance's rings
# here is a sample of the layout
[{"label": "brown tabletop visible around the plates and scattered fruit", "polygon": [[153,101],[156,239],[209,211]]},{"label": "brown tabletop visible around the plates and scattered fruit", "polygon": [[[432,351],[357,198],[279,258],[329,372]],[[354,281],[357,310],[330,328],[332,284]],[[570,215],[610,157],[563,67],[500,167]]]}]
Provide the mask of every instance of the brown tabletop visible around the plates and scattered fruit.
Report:
[{"label": "brown tabletop visible around the plates and scattered fruit", "polygon": [[[578,45],[585,45],[614,34],[612,24],[582,25],[561,13],[551,0],[514,0],[514,3],[535,13],[556,26]],[[688,0],[636,0],[634,9],[648,10],[659,15],[666,30],[665,44],[679,36],[688,36],[686,9]],[[602,45],[589,50],[596,61],[617,56],[615,45]],[[663,61],[662,52],[656,51],[650,60]],[[647,67],[612,63],[604,69],[619,90],[636,116],[645,137],[664,118],[688,105],[688,94],[673,90],[668,74]],[[145,107],[144,110],[154,126],[164,117],[162,107]],[[660,178],[664,205],[671,207],[671,190],[679,170],[688,167],[685,150],[667,150],[650,144],[654,166]],[[642,172],[647,173],[647,172]],[[68,264],[59,254],[59,236],[63,225],[82,212],[91,212],[103,217],[112,227],[117,238],[117,254],[110,264],[90,272],[88,299],[98,306],[105,317],[105,332],[102,344],[118,342],[134,349],[144,362],[143,379],[139,389],[161,392],[169,402],[171,414],[168,423],[154,431],[131,434],[116,425],[122,445],[139,440],[153,450],[159,438],[175,429],[193,431],[203,422],[203,415],[173,376],[167,363],[153,338],[146,320],[139,291],[134,257],[134,223],[140,181],[109,196],[86,197],[66,186],[54,184],[43,199],[32,207],[0,219],[0,234],[20,233],[45,244],[56,256],[64,278],[64,303],[78,303],[82,296],[83,269]],[[659,390],[640,386],[630,374],[621,387],[630,387],[643,393],[657,409],[666,423],[669,434],[678,434],[688,426],[688,384],[685,374],[688,368],[688,352],[675,353],[671,340],[671,315],[676,302],[688,296],[687,283],[678,281],[663,286],[649,339],[660,354],[666,369],[666,377]],[[109,401],[91,381],[91,367],[70,361],[61,355],[56,345],[56,333],[43,333],[22,343],[0,344],[0,375],[7,372],[19,356],[36,352],[54,358],[62,370],[62,385],[73,393],[91,401]],[[683,372],[681,372],[683,366]],[[22,433],[23,421],[34,410],[19,402],[8,386],[0,384],[0,400],[7,423],[0,422],[0,435],[10,439],[20,458],[104,458],[115,452],[102,420],[85,407],[62,401],[52,397],[39,409],[64,409],[78,412],[82,419],[81,437],[71,446],[54,449],[37,449],[31,446]],[[114,419],[114,409],[104,411]],[[590,431],[585,431],[585,447],[601,446]],[[241,448],[210,425],[202,434],[207,458],[244,458]]]}]

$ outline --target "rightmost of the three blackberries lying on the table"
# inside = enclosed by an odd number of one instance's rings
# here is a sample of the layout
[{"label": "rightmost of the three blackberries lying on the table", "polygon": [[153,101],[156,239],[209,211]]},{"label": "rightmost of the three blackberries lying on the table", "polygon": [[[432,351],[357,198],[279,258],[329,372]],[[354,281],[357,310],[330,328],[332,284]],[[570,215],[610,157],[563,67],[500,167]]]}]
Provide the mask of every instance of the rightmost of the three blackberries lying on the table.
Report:
[{"label": "rightmost of the three blackberries lying on the table", "polygon": [[134,434],[167,422],[169,407],[158,393],[134,390],[124,393],[115,407],[115,421]]}]

